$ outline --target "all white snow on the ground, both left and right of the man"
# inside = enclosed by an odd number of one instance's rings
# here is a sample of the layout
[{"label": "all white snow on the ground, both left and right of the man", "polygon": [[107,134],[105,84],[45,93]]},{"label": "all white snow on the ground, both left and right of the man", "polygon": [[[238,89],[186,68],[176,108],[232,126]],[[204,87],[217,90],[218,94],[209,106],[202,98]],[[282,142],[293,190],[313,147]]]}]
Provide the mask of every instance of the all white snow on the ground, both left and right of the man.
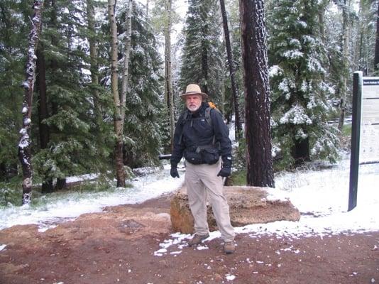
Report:
[{"label": "all white snow on the ground, both left and right of the man", "polygon": [[[251,234],[338,234],[341,231],[379,230],[379,164],[361,165],[358,180],[358,206],[348,207],[349,157],[338,165],[324,170],[303,170],[280,173],[275,177],[274,197],[288,197],[300,209],[299,222],[273,222],[236,228],[237,232]],[[37,207],[9,207],[0,209],[0,229],[16,224],[38,224],[40,230],[75,219],[80,214],[100,212],[106,206],[133,204],[177,190],[184,181],[170,177],[169,166],[157,173],[131,181],[131,187],[111,192],[72,193],[57,195]],[[41,202],[40,202],[41,203]],[[212,233],[211,238],[219,236]],[[183,236],[178,236],[182,238]]]}]

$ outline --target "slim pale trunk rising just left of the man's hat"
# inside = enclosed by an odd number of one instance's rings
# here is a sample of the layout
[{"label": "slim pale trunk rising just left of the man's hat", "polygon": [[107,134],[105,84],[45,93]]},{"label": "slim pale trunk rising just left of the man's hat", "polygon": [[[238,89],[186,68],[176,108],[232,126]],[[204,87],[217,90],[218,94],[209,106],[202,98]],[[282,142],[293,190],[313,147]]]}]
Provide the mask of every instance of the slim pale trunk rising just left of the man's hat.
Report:
[{"label": "slim pale trunk rising just left of the man's hat", "polygon": [[172,0],[166,0],[167,23],[165,30],[165,98],[170,119],[170,148],[172,151],[175,131],[174,95],[172,93],[172,67],[171,67],[171,4]]}]

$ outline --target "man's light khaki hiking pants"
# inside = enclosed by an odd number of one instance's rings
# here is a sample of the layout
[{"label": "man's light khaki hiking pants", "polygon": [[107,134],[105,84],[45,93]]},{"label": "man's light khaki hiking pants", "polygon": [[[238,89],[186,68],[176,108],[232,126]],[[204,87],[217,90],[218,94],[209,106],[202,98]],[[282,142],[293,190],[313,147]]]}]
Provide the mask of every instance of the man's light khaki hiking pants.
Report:
[{"label": "man's light khaki hiking pants", "polygon": [[194,217],[194,231],[196,234],[209,233],[207,223],[207,195],[212,204],[213,214],[224,241],[234,240],[234,229],[230,223],[229,205],[223,195],[222,178],[217,174],[221,168],[221,159],[214,165],[194,165],[186,160],[185,184],[189,208]]}]

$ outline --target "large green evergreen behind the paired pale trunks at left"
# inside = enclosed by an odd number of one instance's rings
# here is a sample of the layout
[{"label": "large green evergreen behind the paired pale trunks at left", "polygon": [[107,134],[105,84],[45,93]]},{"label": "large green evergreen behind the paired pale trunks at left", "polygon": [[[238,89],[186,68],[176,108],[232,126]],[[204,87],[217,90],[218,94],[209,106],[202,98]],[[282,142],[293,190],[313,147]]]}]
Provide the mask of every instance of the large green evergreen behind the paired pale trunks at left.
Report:
[{"label": "large green evergreen behind the paired pale trunks at left", "polygon": [[42,43],[48,117],[42,122],[49,127],[50,140],[47,148],[35,148],[34,163],[42,178],[57,178],[60,189],[67,176],[104,168],[109,148],[94,138],[97,120],[90,77],[83,73],[89,69],[84,1],[45,2]]}]

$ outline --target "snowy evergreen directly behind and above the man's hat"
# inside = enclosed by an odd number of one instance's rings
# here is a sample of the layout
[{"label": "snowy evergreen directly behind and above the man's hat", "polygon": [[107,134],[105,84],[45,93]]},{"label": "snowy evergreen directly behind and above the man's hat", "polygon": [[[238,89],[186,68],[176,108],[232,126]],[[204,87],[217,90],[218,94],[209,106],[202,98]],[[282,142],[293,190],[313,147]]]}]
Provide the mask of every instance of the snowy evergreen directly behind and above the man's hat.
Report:
[{"label": "snowy evergreen directly behind and above the man's hat", "polygon": [[199,84],[212,101],[221,104],[224,54],[219,38],[222,33],[219,6],[214,0],[189,0],[188,5],[180,89],[183,92],[187,84]]}]

